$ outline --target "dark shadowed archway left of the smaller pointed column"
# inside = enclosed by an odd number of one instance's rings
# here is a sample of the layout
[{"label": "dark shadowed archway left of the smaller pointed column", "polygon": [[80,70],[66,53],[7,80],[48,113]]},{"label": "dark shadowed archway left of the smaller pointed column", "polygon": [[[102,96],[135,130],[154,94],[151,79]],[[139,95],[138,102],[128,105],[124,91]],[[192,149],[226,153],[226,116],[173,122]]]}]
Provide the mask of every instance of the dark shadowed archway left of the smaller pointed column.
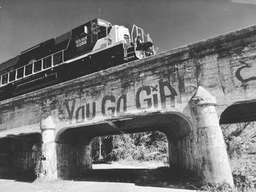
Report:
[{"label": "dark shadowed archway left of the smaller pointed column", "polygon": [[37,149],[41,149],[41,140],[42,135],[38,132],[1,137],[1,178],[33,182],[37,177],[35,169],[41,157],[41,153],[37,153]]}]

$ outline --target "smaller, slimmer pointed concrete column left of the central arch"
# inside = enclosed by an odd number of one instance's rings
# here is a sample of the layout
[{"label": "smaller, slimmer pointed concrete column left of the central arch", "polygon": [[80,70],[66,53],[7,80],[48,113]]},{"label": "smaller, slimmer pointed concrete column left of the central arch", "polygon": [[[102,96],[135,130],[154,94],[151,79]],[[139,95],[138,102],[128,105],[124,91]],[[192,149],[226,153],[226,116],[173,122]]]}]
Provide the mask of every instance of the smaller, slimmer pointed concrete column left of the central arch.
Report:
[{"label": "smaller, slimmer pointed concrete column left of the central arch", "polygon": [[50,116],[42,121],[42,158],[40,179],[56,180],[56,142],[55,142],[55,124]]}]

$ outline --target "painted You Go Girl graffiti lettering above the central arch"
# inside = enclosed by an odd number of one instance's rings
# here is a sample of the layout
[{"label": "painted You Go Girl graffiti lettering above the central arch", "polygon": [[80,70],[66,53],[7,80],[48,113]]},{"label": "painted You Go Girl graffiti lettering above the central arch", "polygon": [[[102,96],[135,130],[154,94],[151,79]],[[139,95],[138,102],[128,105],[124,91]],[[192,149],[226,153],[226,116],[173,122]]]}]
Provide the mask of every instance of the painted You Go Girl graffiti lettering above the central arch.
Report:
[{"label": "painted You Go Girl graffiti lettering above the central arch", "polygon": [[143,85],[137,90],[129,90],[121,96],[105,95],[100,101],[87,101],[86,104],[80,104],[77,99],[64,101],[64,109],[67,110],[70,124],[83,123],[85,120],[93,120],[97,115],[113,117],[129,110],[174,107],[175,96],[177,93],[170,82],[159,80],[153,85]]}]

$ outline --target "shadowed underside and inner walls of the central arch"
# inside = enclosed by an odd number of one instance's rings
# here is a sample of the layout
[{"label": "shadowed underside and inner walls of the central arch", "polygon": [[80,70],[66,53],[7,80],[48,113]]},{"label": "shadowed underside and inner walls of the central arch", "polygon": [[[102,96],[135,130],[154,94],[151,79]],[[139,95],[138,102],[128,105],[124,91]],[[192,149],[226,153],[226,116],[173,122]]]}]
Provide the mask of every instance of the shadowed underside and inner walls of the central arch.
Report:
[{"label": "shadowed underside and inner walls of the central arch", "polygon": [[[132,134],[145,131],[162,131],[169,142],[171,164],[187,169],[187,151],[181,150],[182,138],[192,131],[192,123],[178,112],[137,115],[132,118],[106,120],[104,123],[75,128],[65,128],[56,134],[57,170],[61,178],[92,169],[91,142],[94,137]],[[181,141],[181,142],[180,142]],[[171,147],[171,149],[170,149]]]}]

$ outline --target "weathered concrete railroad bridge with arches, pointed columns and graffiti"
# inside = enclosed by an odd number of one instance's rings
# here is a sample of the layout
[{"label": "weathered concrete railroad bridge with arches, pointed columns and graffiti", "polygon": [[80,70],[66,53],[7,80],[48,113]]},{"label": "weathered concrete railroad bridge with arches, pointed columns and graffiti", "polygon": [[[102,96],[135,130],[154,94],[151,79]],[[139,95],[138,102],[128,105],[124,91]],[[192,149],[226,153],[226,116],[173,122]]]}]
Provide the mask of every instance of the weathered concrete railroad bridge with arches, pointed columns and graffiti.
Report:
[{"label": "weathered concrete railroad bridge with arches, pointed columns and graffiti", "polygon": [[41,161],[40,177],[70,177],[91,169],[94,137],[158,130],[170,164],[233,185],[219,123],[256,119],[255,41],[243,28],[0,101],[0,173]]}]

